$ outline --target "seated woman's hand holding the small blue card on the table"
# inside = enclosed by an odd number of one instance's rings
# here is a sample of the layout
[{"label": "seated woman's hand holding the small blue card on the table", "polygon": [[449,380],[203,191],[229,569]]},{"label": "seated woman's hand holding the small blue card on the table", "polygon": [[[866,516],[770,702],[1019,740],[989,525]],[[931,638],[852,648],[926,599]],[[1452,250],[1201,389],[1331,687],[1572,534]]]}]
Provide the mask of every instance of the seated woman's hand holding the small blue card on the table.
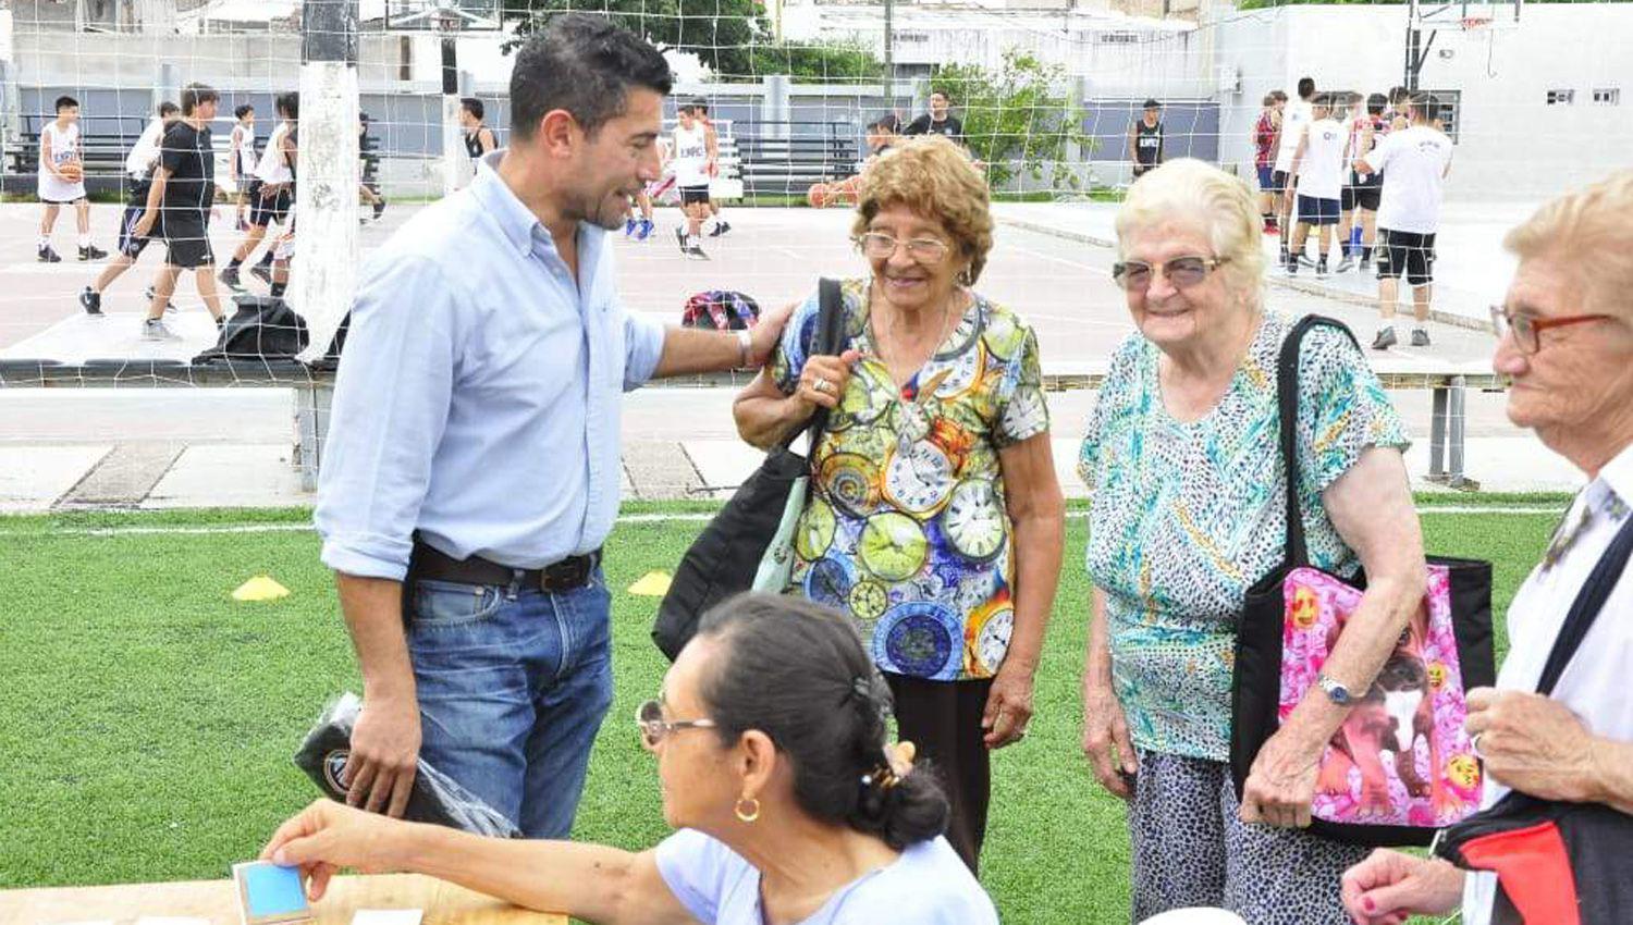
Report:
[{"label": "seated woman's hand holding the small blue card on the table", "polygon": [[377,873],[392,866],[390,835],[405,822],[353,809],[333,799],[318,799],[284,822],[261,848],[261,860],[299,866],[310,878],[312,902],[323,899],[328,881],[340,868]]}]

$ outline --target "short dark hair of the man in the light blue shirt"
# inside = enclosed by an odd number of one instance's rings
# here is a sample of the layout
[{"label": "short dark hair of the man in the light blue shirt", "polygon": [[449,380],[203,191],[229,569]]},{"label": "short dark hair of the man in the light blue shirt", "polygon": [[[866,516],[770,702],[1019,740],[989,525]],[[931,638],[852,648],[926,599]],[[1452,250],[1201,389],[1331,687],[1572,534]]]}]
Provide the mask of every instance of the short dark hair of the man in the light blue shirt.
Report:
[{"label": "short dark hair of the man in the light blue shirt", "polygon": [[586,135],[624,114],[629,90],[668,95],[670,64],[645,39],[590,13],[562,13],[527,39],[511,69],[511,134],[532,139],[552,109],[567,109]]}]

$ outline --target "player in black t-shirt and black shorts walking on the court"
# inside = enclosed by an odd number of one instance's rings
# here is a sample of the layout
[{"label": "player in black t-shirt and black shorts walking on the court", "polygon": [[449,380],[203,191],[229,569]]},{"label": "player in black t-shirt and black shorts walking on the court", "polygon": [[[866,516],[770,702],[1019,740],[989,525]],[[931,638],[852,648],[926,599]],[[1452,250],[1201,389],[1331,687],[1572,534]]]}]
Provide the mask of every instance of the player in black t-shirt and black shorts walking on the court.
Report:
[{"label": "player in black t-shirt and black shorts walking on the court", "polygon": [[220,96],[202,83],[181,90],[181,119],[165,132],[158,168],[147,189],[147,210],[137,220],[136,235],[157,235],[170,250],[165,266],[154,281],[154,302],[142,321],[142,338],[176,341],[180,336],[165,325],[165,305],[176,290],[183,269],[194,271],[204,307],[222,323],[220,297],[216,294],[216,254],[209,246],[209,214],[216,202],[216,153],[209,122],[216,117]]}]

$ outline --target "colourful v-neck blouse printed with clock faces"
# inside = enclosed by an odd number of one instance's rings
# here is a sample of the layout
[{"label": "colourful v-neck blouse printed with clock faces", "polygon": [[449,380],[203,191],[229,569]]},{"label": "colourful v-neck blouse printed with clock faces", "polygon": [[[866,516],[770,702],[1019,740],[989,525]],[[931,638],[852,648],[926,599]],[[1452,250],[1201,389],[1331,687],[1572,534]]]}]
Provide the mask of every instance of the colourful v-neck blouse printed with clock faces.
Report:
[{"label": "colourful v-neck blouse printed with clock faces", "polygon": [[[887,672],[991,677],[1014,625],[1014,556],[998,450],[1048,432],[1037,338],[972,299],[901,388],[879,357],[867,281],[841,285],[846,347],[862,352],[813,454],[789,592],[848,613]],[[792,395],[816,339],[812,294],[772,377]]]}]

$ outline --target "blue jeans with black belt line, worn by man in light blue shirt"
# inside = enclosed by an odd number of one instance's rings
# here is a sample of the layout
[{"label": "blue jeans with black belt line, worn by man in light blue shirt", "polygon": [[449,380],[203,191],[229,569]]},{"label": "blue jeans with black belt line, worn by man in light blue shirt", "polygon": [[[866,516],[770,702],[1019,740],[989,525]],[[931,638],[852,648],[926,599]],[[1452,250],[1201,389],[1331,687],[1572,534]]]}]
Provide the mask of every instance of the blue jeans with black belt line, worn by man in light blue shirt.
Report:
[{"label": "blue jeans with black belt line, worn by man in light blue shirt", "polygon": [[612,705],[612,599],[596,571],[560,594],[418,581],[408,653],[420,757],[529,839],[565,839]]}]

